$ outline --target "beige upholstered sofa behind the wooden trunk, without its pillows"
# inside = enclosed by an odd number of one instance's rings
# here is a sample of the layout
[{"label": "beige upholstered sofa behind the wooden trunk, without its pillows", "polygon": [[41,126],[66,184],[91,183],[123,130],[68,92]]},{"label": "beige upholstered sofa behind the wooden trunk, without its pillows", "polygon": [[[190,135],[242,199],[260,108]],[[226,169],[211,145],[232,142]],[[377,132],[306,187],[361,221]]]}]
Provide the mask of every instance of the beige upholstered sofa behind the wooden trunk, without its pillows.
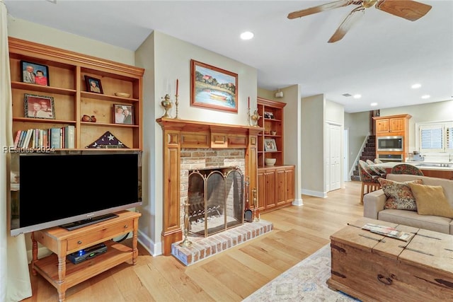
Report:
[{"label": "beige upholstered sofa behind the wooden trunk, without its pillows", "polygon": [[[441,186],[445,194],[445,198],[430,198],[429,202],[436,204],[438,200],[442,200],[445,207],[442,207],[442,211],[437,211],[437,215],[419,214],[422,202],[417,204],[417,196],[414,194],[414,201],[416,210],[408,209],[391,209],[389,208],[389,201],[387,195],[384,193],[384,188],[365,194],[363,199],[363,216],[371,219],[377,219],[382,221],[388,221],[391,223],[403,224],[406,226],[413,226],[415,228],[424,228],[430,231],[436,231],[440,233],[447,233],[453,235],[453,180],[447,180],[443,178],[430,178],[427,176],[419,175],[407,175],[407,174],[387,174],[386,180],[393,182],[421,182],[423,185],[408,185],[413,190],[409,192],[415,193],[414,187],[427,187],[427,186]],[[437,187],[439,189],[439,187]],[[442,191],[442,190],[441,190]],[[388,192],[387,192],[388,193]],[[418,195],[421,197],[421,195]],[[432,195],[438,196],[438,195]],[[426,198],[424,198],[425,200]],[[445,199],[447,199],[445,201]],[[421,198],[420,198],[421,200]],[[423,201],[425,202],[425,201]],[[448,207],[448,204],[449,207]],[[442,205],[442,204],[441,204]],[[423,205],[423,207],[425,207]],[[437,207],[437,204],[436,204]],[[445,214],[447,213],[447,214]],[[450,217],[448,217],[450,216]]]}]

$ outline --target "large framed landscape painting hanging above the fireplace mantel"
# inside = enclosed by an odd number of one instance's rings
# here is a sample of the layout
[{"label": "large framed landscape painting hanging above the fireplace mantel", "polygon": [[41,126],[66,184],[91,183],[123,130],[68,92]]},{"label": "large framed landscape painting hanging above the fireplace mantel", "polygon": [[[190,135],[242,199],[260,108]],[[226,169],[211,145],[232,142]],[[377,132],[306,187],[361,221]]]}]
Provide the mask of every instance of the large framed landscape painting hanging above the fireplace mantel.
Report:
[{"label": "large framed landscape painting hanging above the fireplace mantel", "polygon": [[190,105],[238,112],[238,75],[190,60]]}]

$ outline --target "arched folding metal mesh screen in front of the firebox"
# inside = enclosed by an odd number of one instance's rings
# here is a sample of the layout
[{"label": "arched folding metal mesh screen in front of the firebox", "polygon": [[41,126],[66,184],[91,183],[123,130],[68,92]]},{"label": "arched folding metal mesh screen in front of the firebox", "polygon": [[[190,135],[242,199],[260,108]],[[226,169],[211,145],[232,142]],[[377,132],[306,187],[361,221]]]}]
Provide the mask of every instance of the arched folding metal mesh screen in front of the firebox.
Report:
[{"label": "arched folding metal mesh screen in front of the firebox", "polygon": [[243,201],[239,168],[189,171],[189,232],[207,237],[243,224]]}]

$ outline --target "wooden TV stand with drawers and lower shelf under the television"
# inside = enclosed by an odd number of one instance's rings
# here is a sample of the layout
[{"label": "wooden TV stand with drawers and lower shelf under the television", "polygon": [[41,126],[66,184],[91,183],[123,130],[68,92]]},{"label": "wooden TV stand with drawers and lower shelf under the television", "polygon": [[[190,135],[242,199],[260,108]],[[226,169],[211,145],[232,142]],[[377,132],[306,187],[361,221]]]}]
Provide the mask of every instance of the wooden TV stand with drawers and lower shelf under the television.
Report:
[{"label": "wooden TV stand with drawers and lower shelf under the television", "polygon": [[[59,226],[47,228],[32,233],[33,242],[33,274],[39,273],[47,279],[58,291],[59,301],[64,301],[66,290],[69,287],[85,281],[96,274],[132,260],[137,262],[137,231],[139,216],[134,211],[119,211],[118,217],[101,221],[91,226],[84,226],[73,231],[67,231]],[[117,243],[112,238],[133,233],[132,248]],[[53,253],[38,259],[38,243],[41,243]],[[107,251],[74,265],[67,260],[67,255],[98,243],[107,245]]]}]

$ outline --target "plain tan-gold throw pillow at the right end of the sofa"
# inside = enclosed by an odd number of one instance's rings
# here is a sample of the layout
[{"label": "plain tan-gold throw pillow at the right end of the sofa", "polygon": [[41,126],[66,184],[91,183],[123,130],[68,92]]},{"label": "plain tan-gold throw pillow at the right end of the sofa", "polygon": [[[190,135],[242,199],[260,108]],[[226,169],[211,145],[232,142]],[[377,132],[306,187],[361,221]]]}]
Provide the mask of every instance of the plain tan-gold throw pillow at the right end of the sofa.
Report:
[{"label": "plain tan-gold throw pillow at the right end of the sofa", "polygon": [[417,203],[420,215],[435,215],[453,219],[453,209],[450,207],[444,189],[440,185],[408,184]]}]

